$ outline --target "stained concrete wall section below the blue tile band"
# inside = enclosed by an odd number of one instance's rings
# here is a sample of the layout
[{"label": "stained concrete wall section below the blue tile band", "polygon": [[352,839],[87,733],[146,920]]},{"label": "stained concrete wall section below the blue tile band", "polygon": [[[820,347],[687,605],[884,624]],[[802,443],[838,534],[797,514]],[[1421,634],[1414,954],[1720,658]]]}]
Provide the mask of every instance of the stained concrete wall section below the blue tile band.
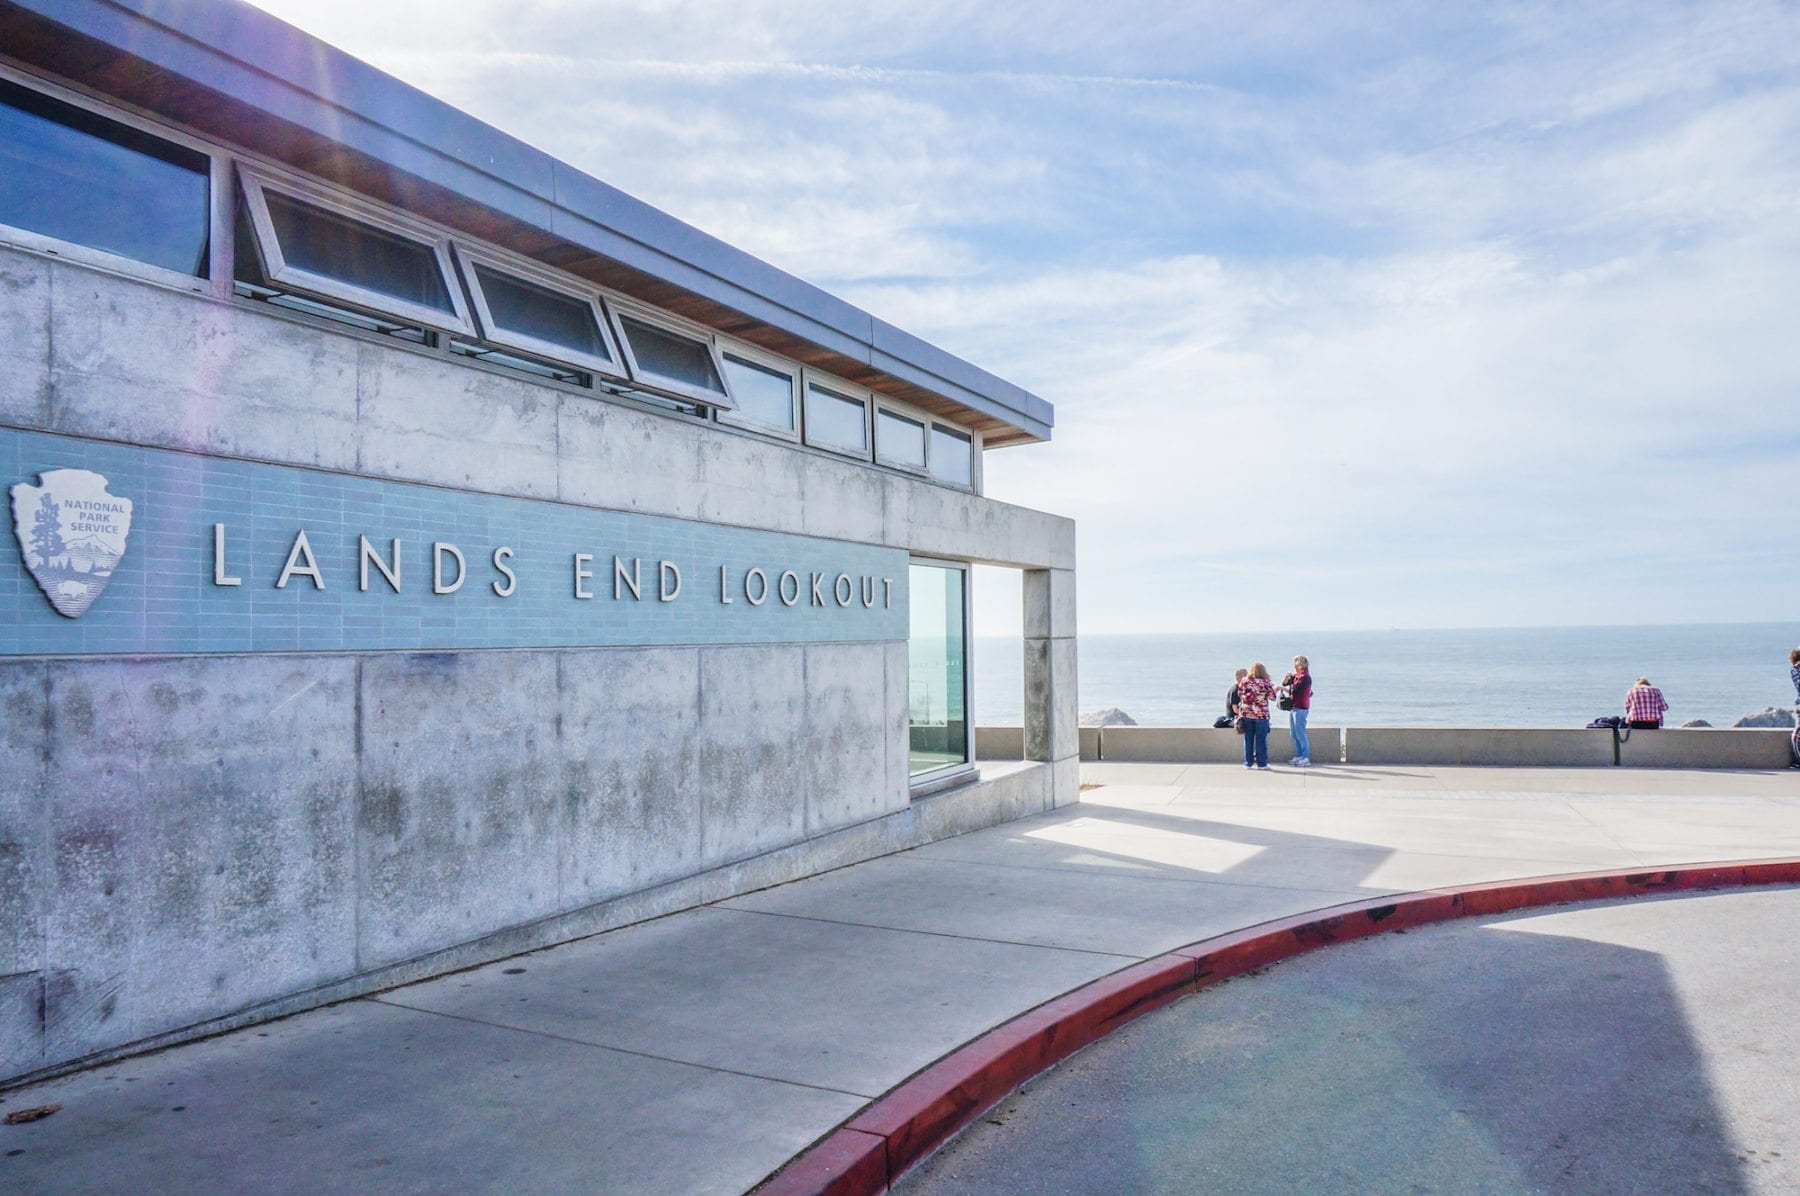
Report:
[{"label": "stained concrete wall section below the blue tile band", "polygon": [[0,661],[5,1074],[902,811],[889,647]]}]

